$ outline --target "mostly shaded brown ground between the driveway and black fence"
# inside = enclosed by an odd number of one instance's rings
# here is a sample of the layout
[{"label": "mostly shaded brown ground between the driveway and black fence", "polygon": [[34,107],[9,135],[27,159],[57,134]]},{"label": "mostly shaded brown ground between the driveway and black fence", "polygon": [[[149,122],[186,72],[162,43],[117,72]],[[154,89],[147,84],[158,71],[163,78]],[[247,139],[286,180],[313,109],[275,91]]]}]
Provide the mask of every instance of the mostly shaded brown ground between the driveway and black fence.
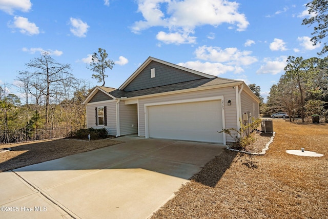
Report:
[{"label": "mostly shaded brown ground between the driveway and black fence", "polygon": [[60,157],[108,147],[122,142],[105,140],[49,140],[19,144],[0,145],[0,149],[11,148],[0,153],[0,172],[25,167]]}]

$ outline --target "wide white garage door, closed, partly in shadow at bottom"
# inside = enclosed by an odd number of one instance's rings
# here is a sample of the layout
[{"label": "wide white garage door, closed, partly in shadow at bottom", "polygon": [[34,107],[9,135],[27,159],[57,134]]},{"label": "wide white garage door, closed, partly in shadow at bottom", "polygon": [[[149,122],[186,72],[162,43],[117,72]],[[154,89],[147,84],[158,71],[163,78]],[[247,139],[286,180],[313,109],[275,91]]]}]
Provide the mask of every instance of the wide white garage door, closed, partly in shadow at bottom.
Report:
[{"label": "wide white garage door, closed, partly in shadow at bottom", "polygon": [[149,137],[223,143],[221,101],[148,107]]}]

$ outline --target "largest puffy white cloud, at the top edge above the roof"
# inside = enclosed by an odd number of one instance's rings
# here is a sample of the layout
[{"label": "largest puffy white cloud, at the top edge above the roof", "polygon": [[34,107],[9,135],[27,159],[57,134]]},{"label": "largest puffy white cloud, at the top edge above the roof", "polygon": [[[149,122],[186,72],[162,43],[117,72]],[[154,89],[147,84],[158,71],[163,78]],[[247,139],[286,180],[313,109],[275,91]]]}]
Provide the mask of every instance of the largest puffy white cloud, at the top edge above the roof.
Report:
[{"label": "largest puffy white cloud, at the top edge above the roof", "polygon": [[[226,0],[138,0],[138,12],[142,13],[143,21],[137,21],[132,26],[132,32],[160,26],[169,29],[170,34],[179,33],[189,36],[194,33],[197,26],[212,25],[214,27],[223,23],[237,27],[238,31],[245,30],[249,22],[244,14],[238,12],[239,4]],[[167,9],[164,11],[163,9]],[[162,34],[162,33],[161,33]],[[157,34],[158,35],[158,34]],[[166,38],[165,38],[166,39]],[[159,39],[160,40],[160,39]],[[165,41],[166,43],[178,43]],[[193,41],[183,41],[183,43]]]}]

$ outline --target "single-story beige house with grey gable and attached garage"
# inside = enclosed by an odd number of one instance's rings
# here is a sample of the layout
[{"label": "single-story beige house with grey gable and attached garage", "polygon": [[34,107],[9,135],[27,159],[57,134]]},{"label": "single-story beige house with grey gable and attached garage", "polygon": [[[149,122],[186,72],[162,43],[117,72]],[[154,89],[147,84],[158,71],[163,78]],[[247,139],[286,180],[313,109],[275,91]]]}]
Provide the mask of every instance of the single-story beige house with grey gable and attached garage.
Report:
[{"label": "single-story beige house with grey gable and attached garage", "polygon": [[118,89],[96,86],[85,99],[87,127],[115,136],[138,134],[226,144],[222,128],[259,116],[259,99],[242,81],[149,57]]}]

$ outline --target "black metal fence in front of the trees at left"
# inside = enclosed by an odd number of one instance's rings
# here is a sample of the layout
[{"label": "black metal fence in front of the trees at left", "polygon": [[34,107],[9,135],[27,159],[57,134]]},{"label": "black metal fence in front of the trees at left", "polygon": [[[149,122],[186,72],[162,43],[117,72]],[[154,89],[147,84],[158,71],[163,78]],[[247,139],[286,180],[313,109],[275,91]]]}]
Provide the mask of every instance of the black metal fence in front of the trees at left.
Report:
[{"label": "black metal fence in front of the trees at left", "polygon": [[84,127],[57,127],[42,129],[19,129],[0,131],[0,144],[49,140],[53,138],[69,137],[71,134]]}]

